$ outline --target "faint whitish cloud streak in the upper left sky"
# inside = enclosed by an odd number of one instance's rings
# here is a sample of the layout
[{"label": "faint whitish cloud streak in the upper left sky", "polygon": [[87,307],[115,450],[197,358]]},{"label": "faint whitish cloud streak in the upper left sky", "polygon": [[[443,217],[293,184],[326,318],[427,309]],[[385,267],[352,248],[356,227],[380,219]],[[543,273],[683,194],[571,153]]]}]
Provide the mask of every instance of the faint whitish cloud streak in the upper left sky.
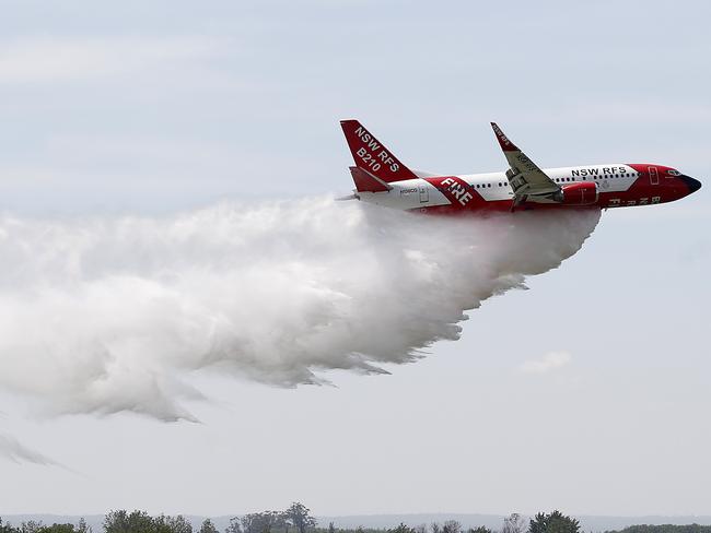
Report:
[{"label": "faint whitish cloud streak in the upper left sky", "polygon": [[57,83],[138,74],[203,57],[218,44],[202,38],[25,39],[4,43],[0,82]]}]

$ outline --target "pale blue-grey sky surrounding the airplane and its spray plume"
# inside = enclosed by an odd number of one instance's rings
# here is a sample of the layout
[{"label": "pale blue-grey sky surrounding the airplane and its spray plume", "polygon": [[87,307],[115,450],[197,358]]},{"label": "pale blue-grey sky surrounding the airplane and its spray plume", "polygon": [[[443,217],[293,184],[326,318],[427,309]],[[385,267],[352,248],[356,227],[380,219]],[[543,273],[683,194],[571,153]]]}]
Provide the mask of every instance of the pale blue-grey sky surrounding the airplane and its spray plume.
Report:
[{"label": "pale blue-grey sky surrounding the airplane and its spray plume", "polygon": [[[559,270],[392,376],[206,380],[220,402],[195,405],[200,425],[37,418],[3,394],[2,430],[81,474],[0,460],[0,514],[711,514],[711,4],[0,9],[0,205],[20,217],[345,193],[342,118],[426,170],[503,169],[497,120],[544,167],[655,162],[704,183],[605,213]],[[570,360],[520,371],[550,352]]]}]

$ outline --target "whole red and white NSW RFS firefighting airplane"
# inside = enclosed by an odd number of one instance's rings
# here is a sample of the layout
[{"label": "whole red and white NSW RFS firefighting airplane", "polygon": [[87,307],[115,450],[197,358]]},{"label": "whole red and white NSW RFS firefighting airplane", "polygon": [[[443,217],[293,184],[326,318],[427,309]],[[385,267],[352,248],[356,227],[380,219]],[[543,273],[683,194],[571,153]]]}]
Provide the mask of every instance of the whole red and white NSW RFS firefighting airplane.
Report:
[{"label": "whole red and white NSW RFS firefighting airplane", "polygon": [[493,122],[505,173],[440,176],[410,170],[358,120],[341,120],[356,161],[353,196],[400,210],[434,213],[550,208],[622,208],[673,202],[701,188],[678,170],[614,163],[540,169]]}]

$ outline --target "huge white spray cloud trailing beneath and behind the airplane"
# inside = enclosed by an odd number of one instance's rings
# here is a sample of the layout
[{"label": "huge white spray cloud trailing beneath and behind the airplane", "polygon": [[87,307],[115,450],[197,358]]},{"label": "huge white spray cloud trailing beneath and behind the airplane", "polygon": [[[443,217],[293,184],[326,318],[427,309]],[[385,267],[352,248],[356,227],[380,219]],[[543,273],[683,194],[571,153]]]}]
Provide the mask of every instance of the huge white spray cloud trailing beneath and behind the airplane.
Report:
[{"label": "huge white spray cloud trailing beneath and behind the airplane", "polygon": [[193,371],[383,372],[580,249],[598,211],[418,216],[308,199],[171,218],[0,218],[0,387],[59,413],[193,419]]}]

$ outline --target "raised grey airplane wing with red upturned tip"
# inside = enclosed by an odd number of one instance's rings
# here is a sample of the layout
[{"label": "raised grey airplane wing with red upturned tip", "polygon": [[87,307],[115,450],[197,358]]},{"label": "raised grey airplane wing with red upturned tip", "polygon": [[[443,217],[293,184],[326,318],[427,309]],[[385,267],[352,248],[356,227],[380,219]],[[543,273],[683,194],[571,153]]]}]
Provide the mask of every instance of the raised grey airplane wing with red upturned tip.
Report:
[{"label": "raised grey airplane wing with red upturned tip", "polygon": [[496,122],[491,122],[491,128],[497,134],[503,155],[506,156],[509,166],[506,177],[511,183],[514,193],[514,203],[523,202],[529,196],[548,196],[560,190],[560,186],[546,176],[538,166],[528,158],[521,150],[503,134],[501,128]]}]

